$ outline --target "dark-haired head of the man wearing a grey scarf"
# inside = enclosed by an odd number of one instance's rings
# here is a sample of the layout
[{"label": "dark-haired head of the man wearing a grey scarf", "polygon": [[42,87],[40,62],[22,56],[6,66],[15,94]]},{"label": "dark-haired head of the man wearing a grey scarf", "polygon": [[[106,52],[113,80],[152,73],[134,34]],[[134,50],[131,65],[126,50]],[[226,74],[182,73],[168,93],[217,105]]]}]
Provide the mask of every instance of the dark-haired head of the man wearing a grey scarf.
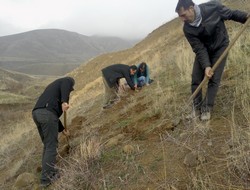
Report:
[{"label": "dark-haired head of the man wearing a grey scarf", "polygon": [[175,12],[183,22],[192,23],[195,20],[194,2],[192,0],[179,0]]}]

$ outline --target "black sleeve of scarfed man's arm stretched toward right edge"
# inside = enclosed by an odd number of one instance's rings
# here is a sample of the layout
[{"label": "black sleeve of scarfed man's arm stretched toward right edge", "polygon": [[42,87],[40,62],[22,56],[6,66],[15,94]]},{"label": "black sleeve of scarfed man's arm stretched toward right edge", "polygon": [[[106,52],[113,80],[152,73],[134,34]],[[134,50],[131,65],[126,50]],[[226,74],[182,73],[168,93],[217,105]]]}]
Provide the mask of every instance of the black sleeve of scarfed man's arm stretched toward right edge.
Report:
[{"label": "black sleeve of scarfed man's arm stretched toward right edge", "polygon": [[231,10],[218,3],[219,13],[224,20],[233,20],[240,23],[247,21],[247,13],[239,10]]}]

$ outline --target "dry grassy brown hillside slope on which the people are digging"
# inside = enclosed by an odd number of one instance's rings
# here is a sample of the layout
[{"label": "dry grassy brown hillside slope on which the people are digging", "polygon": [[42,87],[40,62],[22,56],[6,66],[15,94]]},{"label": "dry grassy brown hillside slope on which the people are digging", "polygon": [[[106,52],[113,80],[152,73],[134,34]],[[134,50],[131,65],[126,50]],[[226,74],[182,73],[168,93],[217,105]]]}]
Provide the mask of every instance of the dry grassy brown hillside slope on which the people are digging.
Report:
[{"label": "dry grassy brown hillside slope on which the people are digging", "polygon": [[[250,10],[247,2],[227,4]],[[231,39],[242,27],[226,24]],[[248,189],[248,33],[249,28],[230,52],[209,122],[185,117],[190,111],[187,100],[194,54],[178,19],[162,25],[131,49],[98,56],[69,73],[76,80],[67,114],[71,138],[69,144],[64,136],[59,138],[61,178],[49,189]],[[149,64],[154,82],[138,92],[121,92],[118,104],[102,110],[101,69],[141,61]],[[34,127],[29,117],[21,121]],[[36,168],[42,145],[36,131],[25,129],[32,146],[18,141],[23,160],[7,151],[7,144],[1,147],[5,153],[2,189],[11,188],[23,172],[33,173],[36,181],[39,178]],[[11,166],[8,153],[21,164]]]}]

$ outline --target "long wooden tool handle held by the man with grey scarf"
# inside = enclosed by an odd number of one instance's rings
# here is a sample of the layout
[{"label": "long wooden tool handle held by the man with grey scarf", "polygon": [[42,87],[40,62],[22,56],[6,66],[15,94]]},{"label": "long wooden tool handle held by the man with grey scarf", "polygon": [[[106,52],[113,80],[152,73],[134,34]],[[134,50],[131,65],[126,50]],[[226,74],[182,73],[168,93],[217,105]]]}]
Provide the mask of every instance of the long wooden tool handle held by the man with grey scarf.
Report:
[{"label": "long wooden tool handle held by the man with grey scarf", "polygon": [[[234,39],[232,40],[232,42],[229,44],[229,46],[225,49],[225,51],[223,52],[223,54],[219,57],[219,59],[216,61],[216,63],[214,64],[214,66],[212,67],[212,72],[215,71],[215,69],[220,65],[221,61],[226,57],[226,55],[228,54],[229,50],[233,47],[233,45],[235,44],[235,42],[238,40],[238,38],[241,36],[241,34],[246,30],[248,24],[250,22],[250,18],[247,19],[246,23],[244,24],[244,26],[241,28],[241,30],[237,33],[237,35],[234,37]],[[191,101],[195,98],[195,96],[198,94],[198,92],[201,90],[201,88],[207,84],[208,82],[208,77],[205,76],[203,81],[200,83],[200,85],[196,88],[196,90],[194,91],[194,93],[190,96],[190,98],[188,99],[188,104],[191,103]]]}]

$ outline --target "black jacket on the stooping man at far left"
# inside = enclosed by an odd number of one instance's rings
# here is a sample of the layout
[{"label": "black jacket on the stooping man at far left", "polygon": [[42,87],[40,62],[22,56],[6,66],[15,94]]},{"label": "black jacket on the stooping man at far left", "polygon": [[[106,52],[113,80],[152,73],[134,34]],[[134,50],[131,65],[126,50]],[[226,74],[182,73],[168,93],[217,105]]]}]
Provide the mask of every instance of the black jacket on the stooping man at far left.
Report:
[{"label": "black jacket on the stooping man at far left", "polygon": [[75,81],[71,77],[64,77],[49,84],[36,102],[33,111],[39,108],[46,108],[58,117],[63,113],[62,103],[69,102],[69,95]]}]

